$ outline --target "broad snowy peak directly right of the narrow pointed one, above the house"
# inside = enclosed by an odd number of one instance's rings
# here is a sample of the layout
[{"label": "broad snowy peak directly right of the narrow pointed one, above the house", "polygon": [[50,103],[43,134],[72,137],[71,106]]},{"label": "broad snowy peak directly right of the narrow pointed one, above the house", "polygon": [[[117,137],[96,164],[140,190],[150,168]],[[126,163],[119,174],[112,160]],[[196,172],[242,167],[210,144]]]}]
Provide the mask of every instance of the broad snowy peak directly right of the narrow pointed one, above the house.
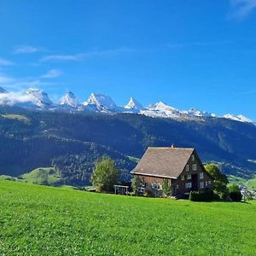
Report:
[{"label": "broad snowy peak directly right of the narrow pointed one, above the house", "polygon": [[177,108],[172,108],[164,102],[157,102],[153,105],[149,105],[148,108],[141,110],[140,113],[150,117],[160,118],[180,118],[185,115]]}]

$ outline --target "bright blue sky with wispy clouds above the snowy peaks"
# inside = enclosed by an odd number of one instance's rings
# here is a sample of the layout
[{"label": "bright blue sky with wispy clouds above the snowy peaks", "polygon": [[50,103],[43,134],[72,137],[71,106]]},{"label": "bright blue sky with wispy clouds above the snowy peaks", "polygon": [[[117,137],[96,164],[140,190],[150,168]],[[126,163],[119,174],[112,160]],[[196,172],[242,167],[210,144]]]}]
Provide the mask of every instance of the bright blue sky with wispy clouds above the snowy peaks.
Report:
[{"label": "bright blue sky with wispy clouds above the snowy peaks", "polygon": [[0,86],[256,120],[256,0],[1,0]]}]

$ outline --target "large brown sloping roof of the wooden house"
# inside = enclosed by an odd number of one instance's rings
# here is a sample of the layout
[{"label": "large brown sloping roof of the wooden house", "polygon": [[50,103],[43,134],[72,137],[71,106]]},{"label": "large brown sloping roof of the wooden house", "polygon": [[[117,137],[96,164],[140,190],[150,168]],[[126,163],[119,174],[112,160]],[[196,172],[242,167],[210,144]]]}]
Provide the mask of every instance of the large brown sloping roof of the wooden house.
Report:
[{"label": "large brown sloping roof of the wooden house", "polygon": [[131,173],[177,178],[194,150],[195,148],[148,148]]}]

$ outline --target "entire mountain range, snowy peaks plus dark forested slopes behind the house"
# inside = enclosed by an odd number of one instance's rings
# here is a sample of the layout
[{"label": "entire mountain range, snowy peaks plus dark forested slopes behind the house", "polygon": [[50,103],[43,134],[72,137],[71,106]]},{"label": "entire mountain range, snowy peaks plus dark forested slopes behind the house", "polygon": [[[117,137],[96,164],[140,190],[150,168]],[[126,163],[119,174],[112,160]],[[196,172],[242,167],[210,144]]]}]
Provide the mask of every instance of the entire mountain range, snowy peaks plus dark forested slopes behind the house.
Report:
[{"label": "entire mountain range, snowy peaks plus dark forested slopes behind the house", "polygon": [[120,107],[95,93],[79,103],[68,92],[55,103],[42,90],[0,88],[0,175],[53,166],[63,183],[90,184],[95,161],[108,155],[128,181],[146,148],[172,143],[196,148],[204,163],[221,163],[227,174],[256,173],[256,125],[242,115],[218,117],[164,102],[144,108],[134,98]]}]

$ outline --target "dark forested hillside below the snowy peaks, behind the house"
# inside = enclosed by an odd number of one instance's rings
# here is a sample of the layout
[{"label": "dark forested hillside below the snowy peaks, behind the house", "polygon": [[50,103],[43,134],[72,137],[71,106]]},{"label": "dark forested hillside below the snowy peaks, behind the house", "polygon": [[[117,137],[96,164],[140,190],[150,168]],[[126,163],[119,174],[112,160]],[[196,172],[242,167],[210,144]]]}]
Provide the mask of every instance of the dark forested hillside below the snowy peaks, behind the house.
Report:
[{"label": "dark forested hillside below the snowy peaks, behind the house", "polygon": [[0,174],[55,166],[67,183],[88,183],[95,160],[109,155],[125,175],[148,146],[195,147],[204,161],[249,177],[256,126],[230,119],[153,119],[139,114],[64,113],[0,108]]}]

